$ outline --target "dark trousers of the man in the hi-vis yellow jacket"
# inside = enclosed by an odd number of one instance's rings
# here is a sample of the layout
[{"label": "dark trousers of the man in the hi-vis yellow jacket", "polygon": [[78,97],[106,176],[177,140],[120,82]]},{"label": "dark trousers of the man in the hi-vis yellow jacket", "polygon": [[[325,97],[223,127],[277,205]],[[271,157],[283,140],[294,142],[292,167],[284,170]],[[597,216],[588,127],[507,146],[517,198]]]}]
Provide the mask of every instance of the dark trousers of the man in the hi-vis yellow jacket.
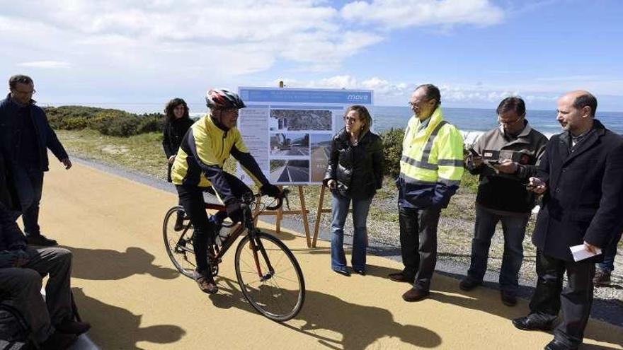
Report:
[{"label": "dark trousers of the man in the hi-vis yellow jacket", "polygon": [[413,288],[428,291],[437,264],[440,208],[399,208],[403,274],[415,277]]}]

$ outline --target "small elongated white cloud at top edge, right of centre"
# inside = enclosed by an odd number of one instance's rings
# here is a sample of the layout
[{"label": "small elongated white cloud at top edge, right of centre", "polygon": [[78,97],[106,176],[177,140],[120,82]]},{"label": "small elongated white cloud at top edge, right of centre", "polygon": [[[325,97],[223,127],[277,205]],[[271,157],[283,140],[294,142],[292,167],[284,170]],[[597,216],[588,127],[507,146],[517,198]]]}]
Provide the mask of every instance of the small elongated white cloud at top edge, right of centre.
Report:
[{"label": "small elongated white cloud at top edge, right of centre", "polygon": [[354,1],[340,11],[348,21],[374,23],[386,29],[423,25],[493,25],[504,12],[488,0]]}]

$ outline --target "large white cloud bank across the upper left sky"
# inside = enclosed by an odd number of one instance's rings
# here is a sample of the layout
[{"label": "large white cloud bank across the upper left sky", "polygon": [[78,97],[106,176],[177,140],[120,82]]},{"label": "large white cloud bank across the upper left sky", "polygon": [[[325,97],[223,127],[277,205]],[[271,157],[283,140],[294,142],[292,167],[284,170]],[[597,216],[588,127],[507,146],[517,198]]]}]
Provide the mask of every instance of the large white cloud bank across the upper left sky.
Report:
[{"label": "large white cloud bank across the upper left sky", "polygon": [[31,42],[45,38],[82,66],[176,66],[183,71],[190,64],[207,74],[235,76],[285,60],[305,69],[335,69],[382,40],[374,33],[345,30],[338,10],[326,1],[35,3],[5,6],[0,28],[13,28],[12,37]]}]

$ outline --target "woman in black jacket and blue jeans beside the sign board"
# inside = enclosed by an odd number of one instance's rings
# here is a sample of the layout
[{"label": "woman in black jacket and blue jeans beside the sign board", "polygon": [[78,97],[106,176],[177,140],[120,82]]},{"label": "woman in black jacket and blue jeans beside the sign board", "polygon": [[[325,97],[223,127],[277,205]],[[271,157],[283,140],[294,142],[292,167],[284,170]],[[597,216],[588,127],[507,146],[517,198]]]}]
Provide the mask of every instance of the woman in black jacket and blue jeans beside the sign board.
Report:
[{"label": "woman in black jacket and blue jeans beside the sign board", "polygon": [[344,254],[344,223],[353,202],[353,271],[365,275],[366,221],[372,197],[383,183],[383,144],[370,131],[372,117],[361,105],[346,109],[345,127],[331,142],[324,185],[331,189],[331,269],[350,276]]}]

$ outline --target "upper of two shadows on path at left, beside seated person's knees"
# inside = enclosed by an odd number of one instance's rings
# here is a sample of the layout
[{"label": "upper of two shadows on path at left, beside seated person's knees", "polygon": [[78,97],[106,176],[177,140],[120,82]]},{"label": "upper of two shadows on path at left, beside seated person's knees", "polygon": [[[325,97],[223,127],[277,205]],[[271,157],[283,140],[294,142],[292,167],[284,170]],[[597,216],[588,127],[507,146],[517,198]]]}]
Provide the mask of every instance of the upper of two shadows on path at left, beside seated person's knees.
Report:
[{"label": "upper of two shadows on path at left, beside seated person's knees", "polygon": [[129,247],[125,252],[109,249],[65,247],[72,251],[74,264],[72,277],[76,279],[115,280],[134,274],[150,274],[158,279],[174,279],[175,269],[153,264],[154,255],[139,247]]}]

